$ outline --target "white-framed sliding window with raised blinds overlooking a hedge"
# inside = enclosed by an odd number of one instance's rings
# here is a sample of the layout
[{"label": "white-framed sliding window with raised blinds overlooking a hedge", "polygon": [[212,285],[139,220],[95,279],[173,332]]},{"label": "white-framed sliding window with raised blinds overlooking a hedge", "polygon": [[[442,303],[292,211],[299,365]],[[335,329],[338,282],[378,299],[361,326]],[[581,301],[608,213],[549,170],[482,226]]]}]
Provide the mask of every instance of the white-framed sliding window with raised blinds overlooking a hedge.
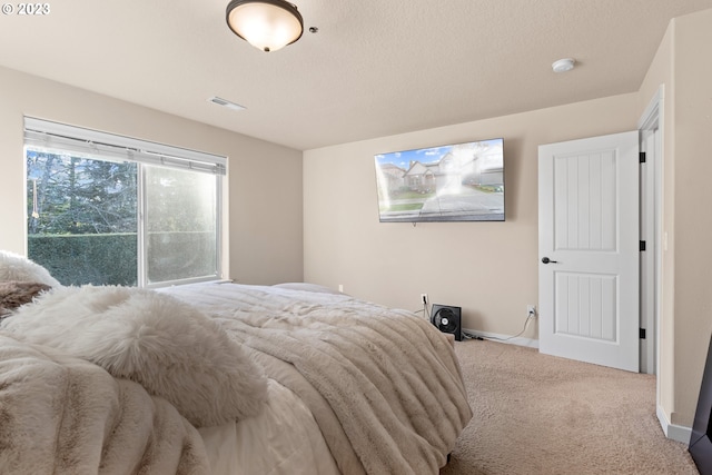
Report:
[{"label": "white-framed sliding window with raised blinds overlooking a hedge", "polygon": [[28,256],[63,285],[220,278],[225,157],[24,119]]}]

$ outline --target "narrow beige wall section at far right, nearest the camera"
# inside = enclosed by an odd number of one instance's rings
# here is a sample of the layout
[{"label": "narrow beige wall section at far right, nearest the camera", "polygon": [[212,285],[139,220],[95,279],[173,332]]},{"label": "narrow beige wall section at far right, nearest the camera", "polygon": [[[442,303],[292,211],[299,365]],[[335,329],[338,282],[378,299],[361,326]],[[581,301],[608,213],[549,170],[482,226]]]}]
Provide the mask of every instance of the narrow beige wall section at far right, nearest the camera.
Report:
[{"label": "narrow beige wall section at far right, nearest the camera", "polygon": [[673,39],[674,410],[692,425],[712,334],[712,10],[675,19]]}]

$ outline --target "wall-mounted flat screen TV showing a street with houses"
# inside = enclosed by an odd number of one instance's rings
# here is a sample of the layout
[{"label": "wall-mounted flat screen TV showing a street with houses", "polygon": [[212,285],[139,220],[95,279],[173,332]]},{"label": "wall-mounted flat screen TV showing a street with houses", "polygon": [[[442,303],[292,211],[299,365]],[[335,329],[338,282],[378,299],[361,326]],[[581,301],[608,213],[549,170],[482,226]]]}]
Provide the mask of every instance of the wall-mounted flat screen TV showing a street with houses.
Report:
[{"label": "wall-mounted flat screen TV showing a street with houses", "polygon": [[504,221],[504,140],[374,157],[380,222]]}]

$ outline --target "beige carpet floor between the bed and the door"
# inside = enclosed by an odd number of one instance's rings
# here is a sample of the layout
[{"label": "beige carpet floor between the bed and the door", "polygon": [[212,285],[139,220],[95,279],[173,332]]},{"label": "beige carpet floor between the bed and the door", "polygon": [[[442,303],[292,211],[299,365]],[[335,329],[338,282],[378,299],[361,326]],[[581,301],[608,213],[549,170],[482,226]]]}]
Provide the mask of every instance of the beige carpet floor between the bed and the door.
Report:
[{"label": "beige carpet floor between the bed and the door", "polygon": [[473,419],[441,475],[698,474],[665,438],[655,378],[494,342],[457,342]]}]

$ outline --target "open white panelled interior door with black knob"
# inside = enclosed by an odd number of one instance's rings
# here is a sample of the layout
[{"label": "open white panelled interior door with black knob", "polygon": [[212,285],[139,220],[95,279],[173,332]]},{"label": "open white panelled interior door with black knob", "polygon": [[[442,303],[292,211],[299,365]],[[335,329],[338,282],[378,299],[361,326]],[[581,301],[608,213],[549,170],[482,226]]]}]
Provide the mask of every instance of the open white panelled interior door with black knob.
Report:
[{"label": "open white panelled interior door with black knob", "polygon": [[542,353],[639,372],[637,131],[538,148]]}]

